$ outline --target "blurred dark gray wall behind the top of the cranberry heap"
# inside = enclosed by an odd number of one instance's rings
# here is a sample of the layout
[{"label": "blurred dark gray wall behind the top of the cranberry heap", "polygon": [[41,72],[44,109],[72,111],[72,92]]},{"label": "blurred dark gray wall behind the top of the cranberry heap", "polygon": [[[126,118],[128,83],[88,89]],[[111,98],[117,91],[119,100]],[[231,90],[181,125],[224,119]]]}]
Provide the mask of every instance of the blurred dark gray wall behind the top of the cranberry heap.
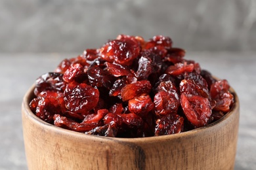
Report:
[{"label": "blurred dark gray wall behind the top of the cranberry heap", "polygon": [[75,52],[118,34],[190,51],[256,50],[255,0],[1,0],[0,52]]}]

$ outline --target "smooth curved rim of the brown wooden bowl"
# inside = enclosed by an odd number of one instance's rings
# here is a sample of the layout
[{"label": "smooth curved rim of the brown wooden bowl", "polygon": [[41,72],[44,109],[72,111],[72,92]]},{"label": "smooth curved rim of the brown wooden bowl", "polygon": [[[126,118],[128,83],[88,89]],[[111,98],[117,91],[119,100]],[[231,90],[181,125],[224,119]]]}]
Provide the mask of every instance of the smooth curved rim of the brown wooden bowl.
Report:
[{"label": "smooth curved rim of the brown wooden bowl", "polygon": [[[35,88],[35,84],[33,84],[29,90],[25,93],[23,100],[22,100],[22,114],[26,114],[25,117],[30,118],[35,124],[38,126],[45,127],[45,129],[51,129],[51,131],[56,131],[57,133],[63,133],[64,135],[71,135],[73,137],[78,137],[81,139],[91,139],[91,140],[103,140],[103,141],[119,141],[119,142],[134,142],[134,143],[140,143],[140,142],[153,142],[153,141],[161,141],[161,140],[169,140],[169,139],[178,139],[182,138],[184,136],[188,135],[195,135],[196,133],[200,131],[206,131],[207,129],[210,129],[211,127],[221,126],[221,124],[224,124],[224,122],[227,121],[227,119],[232,116],[234,112],[239,112],[239,99],[237,93],[234,91],[232,87],[230,87],[229,91],[234,95],[234,103],[230,109],[229,112],[227,112],[222,118],[219,120],[208,124],[207,126],[198,127],[196,129],[192,129],[190,131],[184,131],[182,133],[175,133],[171,135],[160,135],[160,136],[152,136],[152,137],[137,137],[137,138],[122,138],[122,137],[104,137],[104,136],[98,136],[98,135],[87,135],[85,133],[72,131],[70,129],[64,129],[62,127],[54,126],[53,124],[49,124],[37,116],[32,112],[32,110],[29,107],[29,103],[32,100],[32,97],[34,97],[33,90]],[[22,120],[24,121],[24,120]]]}]

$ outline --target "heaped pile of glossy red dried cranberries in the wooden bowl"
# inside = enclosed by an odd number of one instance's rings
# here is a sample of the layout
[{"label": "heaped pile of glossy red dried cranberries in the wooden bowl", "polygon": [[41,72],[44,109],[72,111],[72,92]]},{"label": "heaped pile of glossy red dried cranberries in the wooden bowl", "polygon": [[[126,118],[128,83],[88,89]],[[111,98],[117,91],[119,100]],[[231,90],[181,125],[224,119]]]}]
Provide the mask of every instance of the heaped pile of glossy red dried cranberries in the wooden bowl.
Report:
[{"label": "heaped pile of glossy red dried cranberries in the wooden bowl", "polygon": [[55,126],[108,137],[169,135],[218,120],[234,103],[228,82],[172,44],[119,35],[64,59],[37,78],[30,108]]}]

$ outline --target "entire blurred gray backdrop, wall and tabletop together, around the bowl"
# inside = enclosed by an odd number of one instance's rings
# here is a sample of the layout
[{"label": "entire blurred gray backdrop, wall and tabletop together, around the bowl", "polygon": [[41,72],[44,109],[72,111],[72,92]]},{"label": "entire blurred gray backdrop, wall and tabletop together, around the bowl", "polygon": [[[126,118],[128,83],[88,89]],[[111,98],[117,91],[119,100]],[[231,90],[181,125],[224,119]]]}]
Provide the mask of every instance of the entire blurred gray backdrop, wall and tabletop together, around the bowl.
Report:
[{"label": "entire blurred gray backdrop, wall and tabletop together, around the bowl", "polygon": [[28,169],[20,112],[35,79],[121,33],[169,36],[230,82],[241,112],[235,170],[255,170],[256,0],[0,0],[0,170]]}]

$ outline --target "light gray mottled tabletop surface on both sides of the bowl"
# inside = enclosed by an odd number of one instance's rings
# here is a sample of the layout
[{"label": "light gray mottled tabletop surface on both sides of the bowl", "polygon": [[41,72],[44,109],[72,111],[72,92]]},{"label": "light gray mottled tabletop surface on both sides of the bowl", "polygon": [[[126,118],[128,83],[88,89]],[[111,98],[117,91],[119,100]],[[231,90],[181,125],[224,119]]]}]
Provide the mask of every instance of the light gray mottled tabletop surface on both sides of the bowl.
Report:
[{"label": "light gray mottled tabletop surface on both sides of the bowl", "polygon": [[[0,53],[0,169],[28,169],[24,152],[21,103],[35,79],[77,54]],[[187,52],[240,97],[240,129],[235,169],[256,169],[256,55],[254,52]],[[228,154],[228,153],[227,153]]]}]

